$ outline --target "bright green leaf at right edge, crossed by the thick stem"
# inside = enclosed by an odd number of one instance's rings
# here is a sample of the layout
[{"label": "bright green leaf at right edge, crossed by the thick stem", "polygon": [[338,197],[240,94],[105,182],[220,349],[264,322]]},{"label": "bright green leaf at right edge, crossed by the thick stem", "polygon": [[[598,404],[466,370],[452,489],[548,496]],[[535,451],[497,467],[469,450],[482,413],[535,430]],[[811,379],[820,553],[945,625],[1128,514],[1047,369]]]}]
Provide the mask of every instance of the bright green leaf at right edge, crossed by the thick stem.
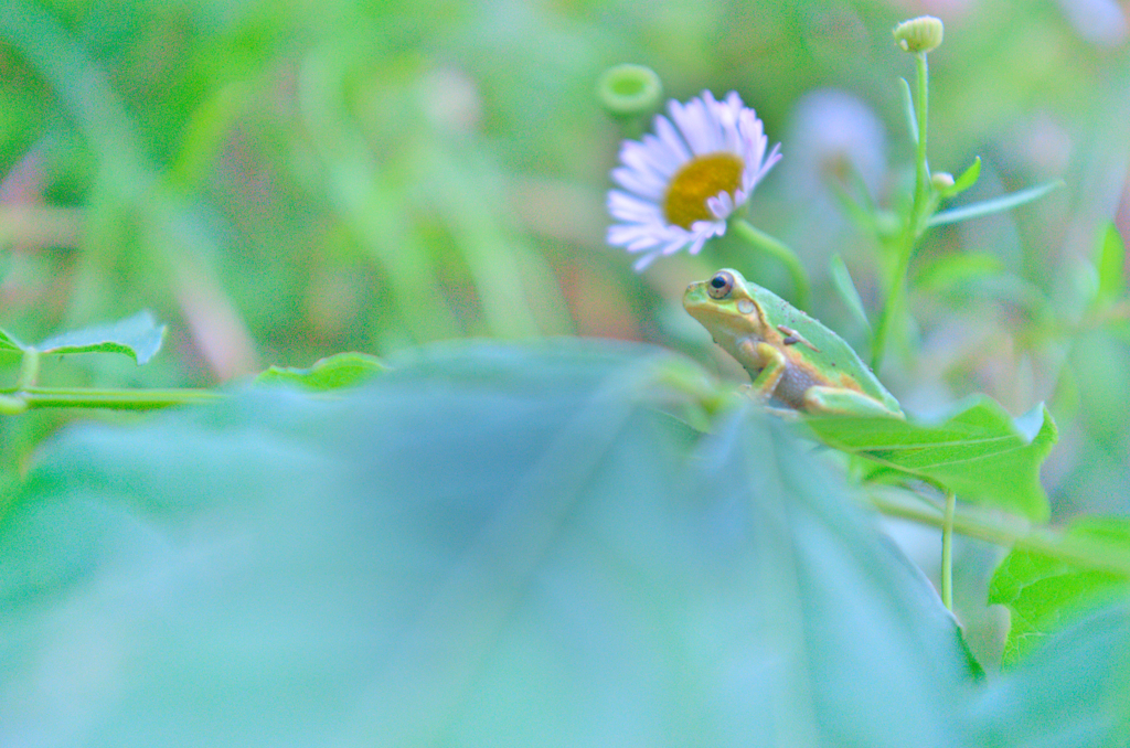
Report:
[{"label": "bright green leaf at right edge, crossed by the thick stem", "polygon": [[[1124,517],[1087,517],[1075,523],[1067,537],[1086,543],[1096,556],[1130,556],[1130,521]],[[1087,609],[1127,594],[1125,574],[1014,549],[989,584],[989,602],[1007,606],[1011,614],[1003,661],[1017,662]]]}]

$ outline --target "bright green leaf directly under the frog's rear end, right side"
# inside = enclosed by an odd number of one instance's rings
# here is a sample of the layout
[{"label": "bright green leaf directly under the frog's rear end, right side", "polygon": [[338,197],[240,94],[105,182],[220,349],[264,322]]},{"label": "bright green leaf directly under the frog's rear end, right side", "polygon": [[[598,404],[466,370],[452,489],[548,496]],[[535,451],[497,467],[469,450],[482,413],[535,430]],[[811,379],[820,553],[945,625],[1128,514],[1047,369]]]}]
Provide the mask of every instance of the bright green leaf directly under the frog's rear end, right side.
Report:
[{"label": "bright green leaf directly under the frog's rear end, right side", "polygon": [[979,397],[940,424],[893,418],[806,418],[819,438],[883,470],[921,478],[958,498],[1044,522],[1048,496],[1040,466],[1058,438],[1040,406],[1014,420]]}]

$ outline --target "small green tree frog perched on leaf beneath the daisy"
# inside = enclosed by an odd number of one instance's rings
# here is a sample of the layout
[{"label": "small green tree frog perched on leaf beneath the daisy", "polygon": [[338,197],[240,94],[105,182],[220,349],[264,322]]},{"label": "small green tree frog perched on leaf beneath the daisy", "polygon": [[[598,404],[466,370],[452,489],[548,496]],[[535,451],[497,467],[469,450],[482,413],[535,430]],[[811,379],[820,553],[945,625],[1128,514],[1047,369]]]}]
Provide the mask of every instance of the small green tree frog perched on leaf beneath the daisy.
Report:
[{"label": "small green tree frog perched on leaf beneath the daisy", "polygon": [[737,270],[690,284],[683,306],[749,372],[762,402],[812,415],[904,417],[843,338]]}]

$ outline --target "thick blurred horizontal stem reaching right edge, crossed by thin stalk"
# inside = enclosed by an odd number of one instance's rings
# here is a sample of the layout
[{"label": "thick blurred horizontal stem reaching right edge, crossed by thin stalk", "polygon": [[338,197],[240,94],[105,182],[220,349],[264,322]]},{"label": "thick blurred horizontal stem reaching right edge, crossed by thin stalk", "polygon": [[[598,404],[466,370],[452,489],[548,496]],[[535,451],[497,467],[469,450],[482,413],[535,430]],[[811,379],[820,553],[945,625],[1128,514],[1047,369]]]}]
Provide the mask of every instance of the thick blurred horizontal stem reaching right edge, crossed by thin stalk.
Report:
[{"label": "thick blurred horizontal stem reaching right edge, crossed by thin stalk", "polygon": [[[886,514],[935,528],[944,528],[944,510],[920,497],[869,492],[871,505]],[[967,538],[998,546],[1031,550],[1060,560],[1130,577],[1130,554],[1093,540],[1071,538],[1046,528],[1031,528],[1022,520],[968,508],[955,508],[954,530]]]}]

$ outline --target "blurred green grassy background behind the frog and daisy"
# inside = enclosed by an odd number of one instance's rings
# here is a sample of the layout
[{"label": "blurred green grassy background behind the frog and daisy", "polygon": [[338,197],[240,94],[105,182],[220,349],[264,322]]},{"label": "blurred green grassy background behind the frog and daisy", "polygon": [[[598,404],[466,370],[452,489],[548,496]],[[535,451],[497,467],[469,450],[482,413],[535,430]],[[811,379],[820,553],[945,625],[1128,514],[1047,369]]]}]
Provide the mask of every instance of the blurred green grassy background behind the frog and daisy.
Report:
[{"label": "blurred green grassy background behind the frog and daisy", "polygon": [[[930,55],[931,167],[983,162],[955,202],[1066,188],[928,236],[881,379],[915,414],[980,392],[1012,416],[1045,401],[1060,433],[1043,470],[1052,521],[1124,514],[1130,307],[1111,247],[1130,235],[1130,55],[1123,11],[1102,0],[7,0],[0,327],[44,340],[141,308],[167,323],[145,367],[45,357],[41,382],[59,386],[212,386],[342,350],[573,334],[658,343],[744,381],[679,298],[722,266],[788,296],[779,266],[728,236],[636,276],[603,243],[624,133],[593,86],[640,62],[680,99],[738,90],[782,141],[749,219],[797,249],[809,311],[866,355],[829,268],[841,255],[873,323],[879,243],[828,184],[866,164],[871,198],[899,207],[913,154],[897,78],[912,70],[889,31],[920,12],[946,23]],[[828,90],[864,113],[812,98]],[[17,357],[0,365],[15,380]],[[0,420],[6,481],[62,421]],[[936,537],[897,532],[932,574]],[[956,564],[957,612],[990,669],[1005,625],[985,589],[1002,553],[967,540]],[[1048,567],[1015,559],[997,599],[1059,594],[1024,586]]]}]

